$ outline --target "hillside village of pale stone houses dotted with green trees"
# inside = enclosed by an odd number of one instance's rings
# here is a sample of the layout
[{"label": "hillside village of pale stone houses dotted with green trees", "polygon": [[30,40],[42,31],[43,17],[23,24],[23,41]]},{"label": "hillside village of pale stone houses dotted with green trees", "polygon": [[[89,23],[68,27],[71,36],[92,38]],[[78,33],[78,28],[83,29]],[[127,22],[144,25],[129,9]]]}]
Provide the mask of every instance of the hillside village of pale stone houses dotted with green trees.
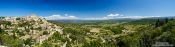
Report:
[{"label": "hillside village of pale stone houses dotted with green trees", "polygon": [[[14,36],[24,41],[31,39],[31,45],[42,44],[54,33],[63,34],[60,26],[49,23],[47,20],[35,15],[5,17],[0,21],[0,28],[7,33],[6,35]],[[23,44],[23,46],[27,46],[27,44]]]}]

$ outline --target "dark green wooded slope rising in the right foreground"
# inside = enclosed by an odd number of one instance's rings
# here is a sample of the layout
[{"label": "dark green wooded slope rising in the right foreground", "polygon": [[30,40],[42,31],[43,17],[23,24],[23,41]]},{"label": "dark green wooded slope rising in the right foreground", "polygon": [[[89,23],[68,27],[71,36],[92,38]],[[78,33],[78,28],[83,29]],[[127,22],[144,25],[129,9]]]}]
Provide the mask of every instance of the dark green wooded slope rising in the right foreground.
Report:
[{"label": "dark green wooded slope rising in the right foreground", "polygon": [[136,33],[116,38],[118,47],[153,47],[156,42],[175,45],[175,20],[157,19],[148,25],[138,28]]}]

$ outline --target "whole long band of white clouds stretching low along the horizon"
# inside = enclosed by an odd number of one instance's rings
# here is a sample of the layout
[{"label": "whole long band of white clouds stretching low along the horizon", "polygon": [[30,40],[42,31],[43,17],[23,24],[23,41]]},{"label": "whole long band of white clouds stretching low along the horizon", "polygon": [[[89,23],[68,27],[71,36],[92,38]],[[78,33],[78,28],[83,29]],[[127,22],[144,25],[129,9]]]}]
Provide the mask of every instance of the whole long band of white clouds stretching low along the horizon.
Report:
[{"label": "whole long band of white clouds stretching low along the horizon", "polygon": [[109,19],[121,19],[121,18],[130,18],[130,19],[142,19],[142,18],[150,18],[150,17],[160,17],[160,16],[124,16],[121,14],[109,14],[104,17],[97,17],[97,18],[79,18],[76,16],[65,14],[64,16],[61,15],[51,15],[47,17],[43,17],[47,20],[109,20]]}]

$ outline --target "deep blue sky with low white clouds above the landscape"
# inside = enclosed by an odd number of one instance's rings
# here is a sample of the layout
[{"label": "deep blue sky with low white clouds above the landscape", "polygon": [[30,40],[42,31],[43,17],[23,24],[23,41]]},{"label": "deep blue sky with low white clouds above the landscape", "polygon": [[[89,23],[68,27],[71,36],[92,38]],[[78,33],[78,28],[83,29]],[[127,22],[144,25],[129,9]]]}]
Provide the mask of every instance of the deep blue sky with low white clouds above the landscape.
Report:
[{"label": "deep blue sky with low white clouds above the landscape", "polygon": [[175,16],[175,0],[0,0],[0,16],[36,14],[47,19]]}]

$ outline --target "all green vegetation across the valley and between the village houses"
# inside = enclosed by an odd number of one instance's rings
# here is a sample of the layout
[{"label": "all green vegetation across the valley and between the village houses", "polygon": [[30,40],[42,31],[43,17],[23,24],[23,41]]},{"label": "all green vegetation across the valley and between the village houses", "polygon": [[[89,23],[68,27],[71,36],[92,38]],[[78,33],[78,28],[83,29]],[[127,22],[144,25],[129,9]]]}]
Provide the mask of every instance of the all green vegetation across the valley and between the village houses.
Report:
[{"label": "all green vegetation across the valley and between the village houses", "polygon": [[[25,26],[28,32],[20,32],[18,29],[14,29],[13,35],[9,35],[9,32],[0,28],[0,44],[10,47],[23,47],[24,44],[38,47],[153,47],[156,42],[168,42],[175,45],[175,20],[169,18],[113,21],[111,23],[104,21],[49,22],[61,26],[63,33],[56,31],[42,43],[35,43],[35,39],[32,38],[21,40],[20,36],[29,34],[31,29],[44,30],[42,27],[30,27],[32,22],[23,22],[16,26]],[[3,21],[0,24],[13,25],[9,21]],[[52,32],[43,31],[41,34],[47,36]]]}]

